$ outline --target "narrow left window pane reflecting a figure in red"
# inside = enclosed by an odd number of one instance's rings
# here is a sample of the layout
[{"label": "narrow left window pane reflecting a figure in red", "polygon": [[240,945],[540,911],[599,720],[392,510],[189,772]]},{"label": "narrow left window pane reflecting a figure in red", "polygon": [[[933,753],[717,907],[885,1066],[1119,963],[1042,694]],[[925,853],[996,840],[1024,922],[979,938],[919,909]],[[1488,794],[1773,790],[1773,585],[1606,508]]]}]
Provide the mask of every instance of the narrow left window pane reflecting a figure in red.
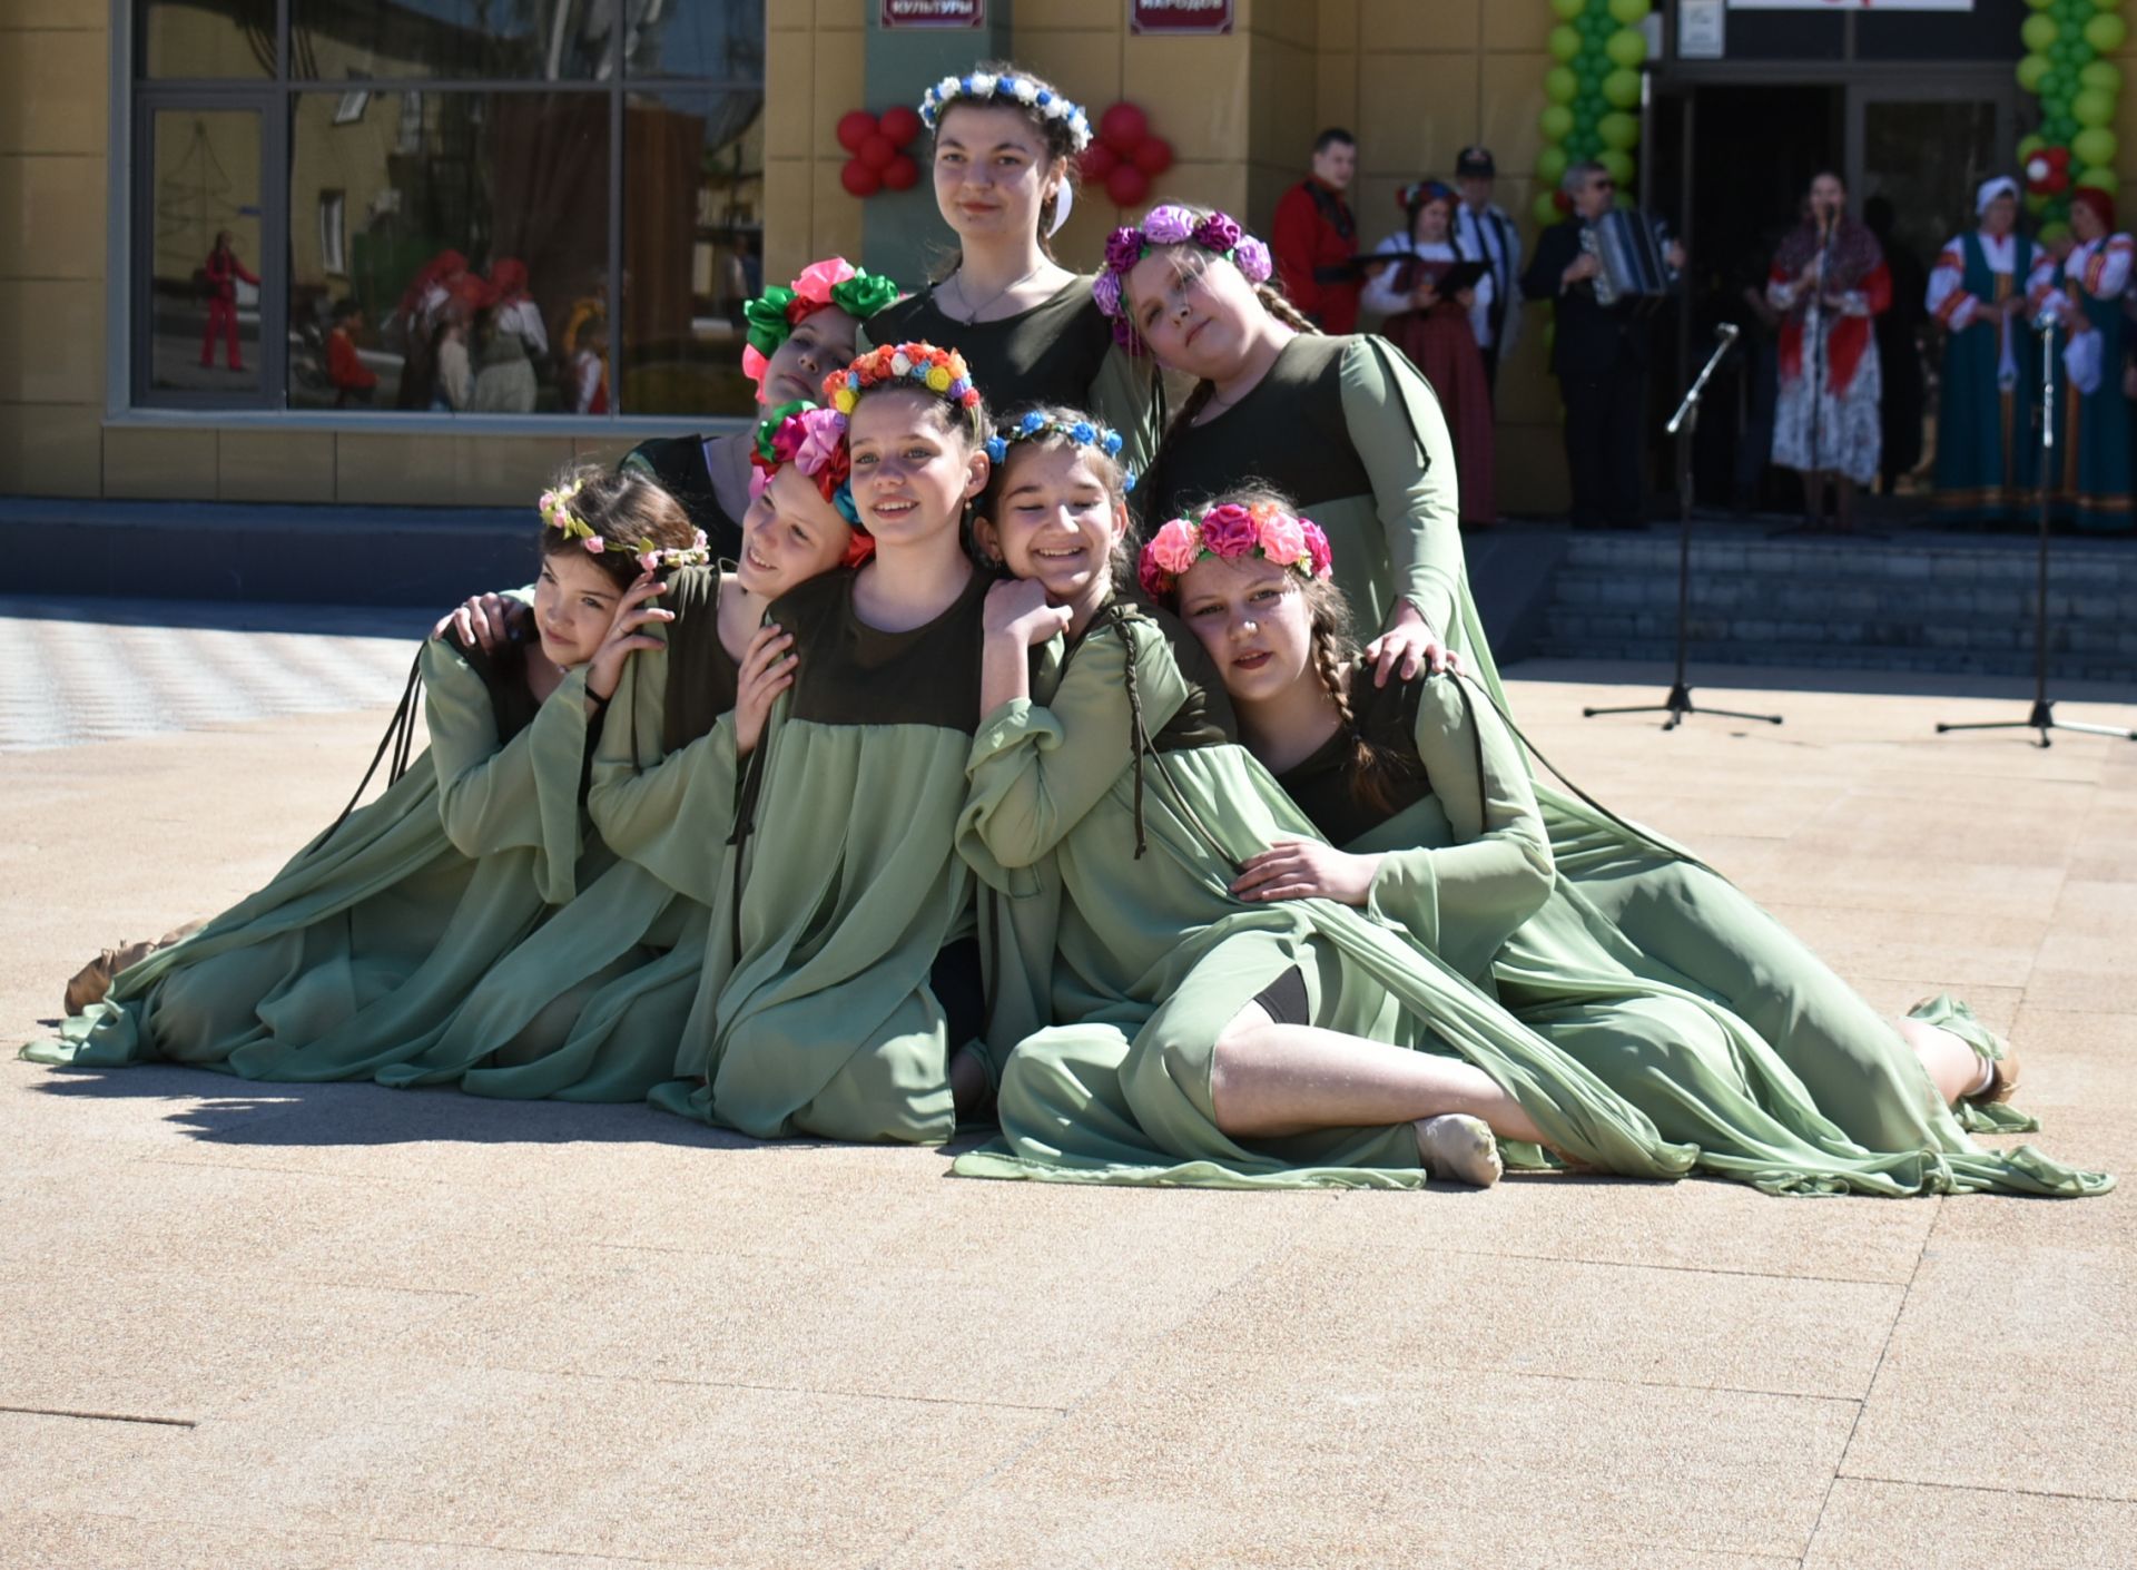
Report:
[{"label": "narrow left window pane reflecting a figure in red", "polygon": [[231,394],[261,385],[261,118],[158,109],[150,218],[147,383]]}]

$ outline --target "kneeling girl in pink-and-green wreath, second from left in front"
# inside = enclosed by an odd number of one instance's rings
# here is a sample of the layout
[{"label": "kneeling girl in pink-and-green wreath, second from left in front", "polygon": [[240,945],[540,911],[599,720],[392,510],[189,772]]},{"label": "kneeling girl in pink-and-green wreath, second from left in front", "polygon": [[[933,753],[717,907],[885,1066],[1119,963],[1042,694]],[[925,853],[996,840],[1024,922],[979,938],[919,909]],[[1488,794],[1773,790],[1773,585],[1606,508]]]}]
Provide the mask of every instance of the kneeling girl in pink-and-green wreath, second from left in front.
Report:
[{"label": "kneeling girl in pink-and-green wreath, second from left in front", "polygon": [[739,563],[641,573],[594,655],[586,689],[607,719],[586,806],[618,864],[506,954],[436,1046],[383,1067],[383,1084],[641,1102],[673,1076],[737,764],[793,682],[793,640],[763,625],[765,607],[872,550],[844,515],[844,415],[774,411],[756,475]]}]

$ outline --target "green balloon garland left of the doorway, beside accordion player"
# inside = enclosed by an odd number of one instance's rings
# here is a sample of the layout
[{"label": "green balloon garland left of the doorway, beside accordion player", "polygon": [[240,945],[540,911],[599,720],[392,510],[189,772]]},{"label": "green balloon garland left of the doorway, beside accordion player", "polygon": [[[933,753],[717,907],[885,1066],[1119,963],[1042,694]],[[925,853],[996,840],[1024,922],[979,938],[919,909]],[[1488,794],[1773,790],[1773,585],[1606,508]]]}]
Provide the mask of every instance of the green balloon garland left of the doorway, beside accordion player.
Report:
[{"label": "green balloon garland left of the doorway, beside accordion player", "polygon": [[[2079,2],[2090,11],[2094,0]],[[1648,34],[1639,24],[1654,9],[1652,0],[1549,0],[1549,4],[1558,26],[1547,41],[1551,51],[1551,68],[1543,75],[1547,103],[1537,118],[1543,130],[1543,152],[1537,154],[1537,180],[1543,184],[1534,201],[1539,225],[1554,225],[1564,216],[1558,207],[1558,182],[1569,165],[1586,158],[1609,169],[1620,190],[1631,190],[1633,150],[1639,145],[1639,64],[1648,58]]]}]

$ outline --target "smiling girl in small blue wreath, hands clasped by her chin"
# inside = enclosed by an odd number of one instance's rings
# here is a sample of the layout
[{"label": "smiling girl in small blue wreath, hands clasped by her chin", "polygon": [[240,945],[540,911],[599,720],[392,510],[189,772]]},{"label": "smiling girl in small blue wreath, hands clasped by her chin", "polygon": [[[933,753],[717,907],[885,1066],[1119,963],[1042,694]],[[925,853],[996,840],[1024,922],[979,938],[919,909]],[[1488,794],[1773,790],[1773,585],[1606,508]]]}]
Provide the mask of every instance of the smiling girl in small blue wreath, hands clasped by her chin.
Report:
[{"label": "smiling girl in small blue wreath, hands clasped by her chin", "polygon": [[[1239,746],[1222,678],[1192,635],[1116,592],[1128,528],[1116,456],[1111,432],[1062,409],[1011,419],[996,438],[979,537],[1015,582],[987,597],[987,712],[957,847],[1013,901],[1058,903],[1039,1005],[1058,1025],[1021,1040],[1004,1067],[1007,1149],[957,1170],[1227,1187],[1415,1187],[1428,1172],[1492,1183],[1494,1134],[1534,1161],[1549,1140],[1613,1170],[1686,1170],[1688,1151],[1406,935],[1331,901],[1248,903],[1233,890],[1242,862],[1314,830]],[[1212,509],[1210,539],[1327,573],[1319,528],[1250,501]],[[1541,879],[1541,836],[1526,856]],[[1301,965],[1312,980],[1293,984]],[[1222,1102],[1229,1022],[1257,1010],[1400,1057],[1400,1117],[1274,1127],[1250,1108],[1237,1121]],[[1415,1035],[1413,1012],[1511,1063],[1507,1080],[1445,1052],[1378,1046]],[[1507,1089],[1530,1082],[1545,1087],[1541,1117]]]}]

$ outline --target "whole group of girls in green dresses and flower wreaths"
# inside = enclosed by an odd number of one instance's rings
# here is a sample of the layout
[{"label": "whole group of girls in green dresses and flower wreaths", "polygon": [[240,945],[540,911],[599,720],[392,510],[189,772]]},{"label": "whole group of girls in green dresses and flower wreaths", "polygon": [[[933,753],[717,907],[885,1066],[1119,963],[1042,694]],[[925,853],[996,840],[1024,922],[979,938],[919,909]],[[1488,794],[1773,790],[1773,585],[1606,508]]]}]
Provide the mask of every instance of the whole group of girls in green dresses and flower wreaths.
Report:
[{"label": "whole group of girls in green dresses and flower wreaths", "polygon": [[1532,774],[1408,361],[1220,212],[1058,267],[1088,124],[1030,73],[923,118],[955,267],[769,291],[754,436],[564,477],[532,597],[423,646],[427,755],[28,1057],[977,1129],[996,1179],[2111,1187],[1970,1138],[2032,1123],[1964,1003],[1881,1018]]}]

